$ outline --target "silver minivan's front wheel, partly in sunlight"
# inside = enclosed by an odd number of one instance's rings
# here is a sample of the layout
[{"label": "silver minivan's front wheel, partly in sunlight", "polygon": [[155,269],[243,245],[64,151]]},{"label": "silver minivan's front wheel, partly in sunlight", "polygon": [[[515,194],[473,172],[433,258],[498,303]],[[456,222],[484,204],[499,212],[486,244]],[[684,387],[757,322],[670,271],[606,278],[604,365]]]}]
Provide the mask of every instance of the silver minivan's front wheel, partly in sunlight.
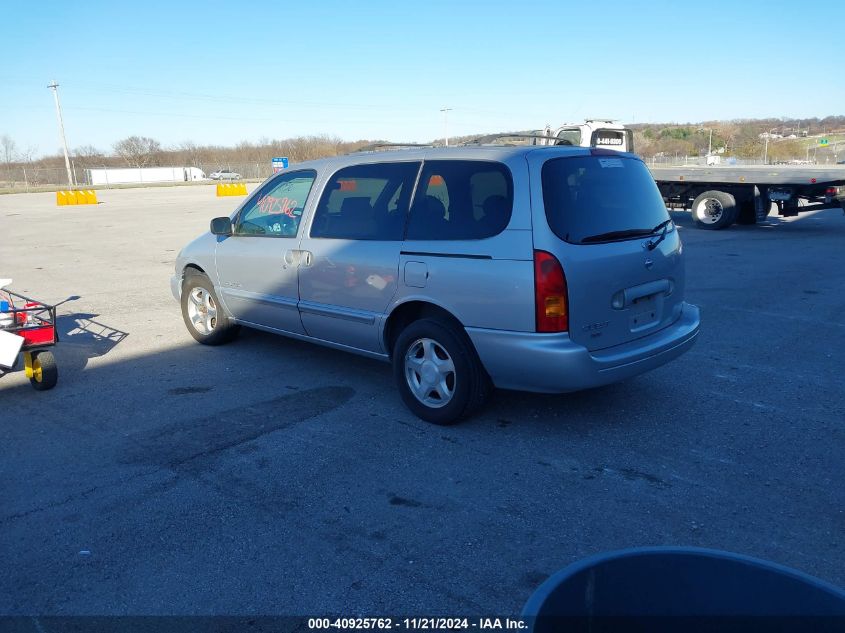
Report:
[{"label": "silver minivan's front wheel, partly in sunlight", "polygon": [[182,284],[182,319],[194,339],[203,345],[222,345],[238,335],[214,292],[214,284],[203,274],[189,274]]}]

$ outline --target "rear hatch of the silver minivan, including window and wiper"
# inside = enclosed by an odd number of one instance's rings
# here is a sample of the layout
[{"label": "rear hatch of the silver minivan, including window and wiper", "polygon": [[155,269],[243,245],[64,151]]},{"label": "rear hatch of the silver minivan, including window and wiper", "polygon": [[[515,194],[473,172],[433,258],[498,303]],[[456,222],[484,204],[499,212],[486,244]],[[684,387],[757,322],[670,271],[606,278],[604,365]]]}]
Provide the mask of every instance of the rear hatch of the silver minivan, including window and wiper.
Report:
[{"label": "rear hatch of the silver minivan, including window and wiper", "polygon": [[643,162],[594,149],[545,160],[540,180],[534,243],[563,266],[570,338],[599,350],[673,323],[683,303],[681,243]]}]

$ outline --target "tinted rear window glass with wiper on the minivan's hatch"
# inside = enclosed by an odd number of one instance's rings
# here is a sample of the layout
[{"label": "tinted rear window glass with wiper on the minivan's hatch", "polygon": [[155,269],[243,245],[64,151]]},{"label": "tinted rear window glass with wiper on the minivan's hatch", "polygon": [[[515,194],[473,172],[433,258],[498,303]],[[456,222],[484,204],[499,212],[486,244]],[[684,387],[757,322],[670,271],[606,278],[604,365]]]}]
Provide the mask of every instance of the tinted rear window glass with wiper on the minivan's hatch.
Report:
[{"label": "tinted rear window glass with wiper on the minivan's hatch", "polygon": [[572,244],[642,237],[669,220],[648,168],[635,158],[554,158],[543,165],[542,181],[549,227]]}]

